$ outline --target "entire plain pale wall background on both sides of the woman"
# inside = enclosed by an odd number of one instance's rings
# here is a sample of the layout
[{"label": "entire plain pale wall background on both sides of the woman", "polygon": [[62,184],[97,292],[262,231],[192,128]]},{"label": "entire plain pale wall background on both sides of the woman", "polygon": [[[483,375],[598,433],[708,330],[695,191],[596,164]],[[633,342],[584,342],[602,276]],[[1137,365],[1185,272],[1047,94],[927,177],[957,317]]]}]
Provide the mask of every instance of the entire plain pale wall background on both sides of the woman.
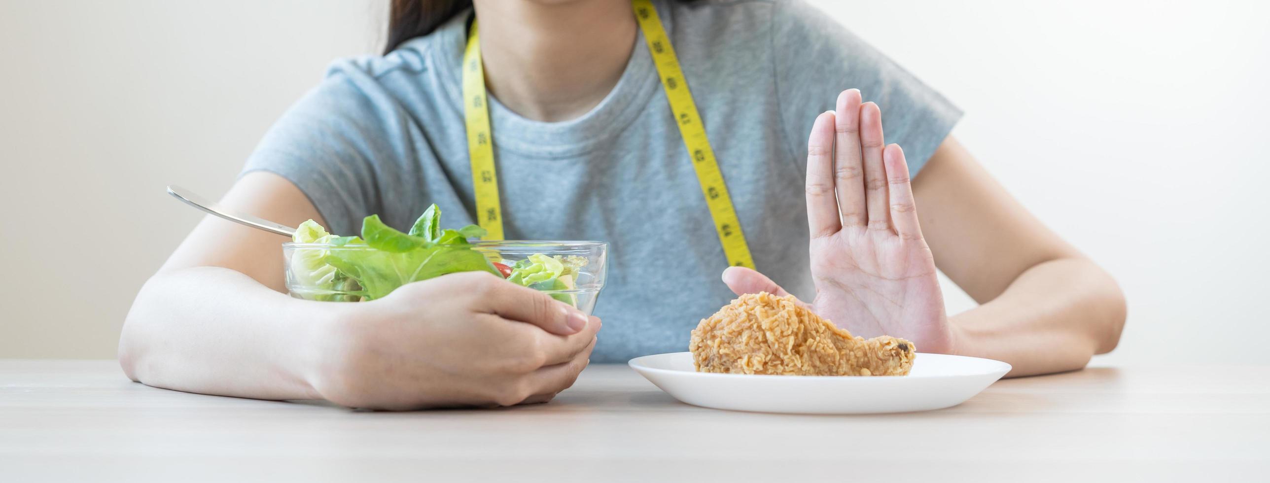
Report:
[{"label": "entire plain pale wall background on both sides of the woman", "polygon": [[[1270,362],[1265,3],[814,3],[963,107],[955,135],[1116,275],[1129,324],[1102,360]],[[331,58],[380,47],[385,15],[0,0],[0,357],[113,357],[198,220],[164,186],[224,193]],[[951,313],[974,305],[945,286]]]}]

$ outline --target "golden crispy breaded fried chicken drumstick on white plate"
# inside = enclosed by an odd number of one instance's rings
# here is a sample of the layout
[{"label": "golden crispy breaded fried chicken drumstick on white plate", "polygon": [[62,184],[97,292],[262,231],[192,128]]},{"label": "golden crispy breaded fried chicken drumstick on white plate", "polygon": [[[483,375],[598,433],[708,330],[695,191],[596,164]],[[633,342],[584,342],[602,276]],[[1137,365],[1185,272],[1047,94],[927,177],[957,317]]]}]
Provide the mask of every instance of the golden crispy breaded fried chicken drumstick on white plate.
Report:
[{"label": "golden crispy breaded fried chicken drumstick on white plate", "polygon": [[688,343],[700,372],[903,376],[917,347],[889,336],[852,337],[792,295],[742,295],[702,319]]}]

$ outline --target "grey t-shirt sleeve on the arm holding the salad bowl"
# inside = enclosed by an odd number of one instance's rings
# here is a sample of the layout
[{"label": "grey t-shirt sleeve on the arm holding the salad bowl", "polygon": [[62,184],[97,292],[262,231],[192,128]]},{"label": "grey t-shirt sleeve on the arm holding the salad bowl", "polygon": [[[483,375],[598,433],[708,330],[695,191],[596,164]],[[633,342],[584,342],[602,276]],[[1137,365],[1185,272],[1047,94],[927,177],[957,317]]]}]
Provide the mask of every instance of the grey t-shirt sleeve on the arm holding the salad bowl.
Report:
[{"label": "grey t-shirt sleeve on the arm holding the salad bowl", "polygon": [[269,128],[243,169],[291,180],[342,235],[357,234],[362,217],[381,211],[385,156],[395,156],[385,136],[394,116],[357,74],[333,67]]}]

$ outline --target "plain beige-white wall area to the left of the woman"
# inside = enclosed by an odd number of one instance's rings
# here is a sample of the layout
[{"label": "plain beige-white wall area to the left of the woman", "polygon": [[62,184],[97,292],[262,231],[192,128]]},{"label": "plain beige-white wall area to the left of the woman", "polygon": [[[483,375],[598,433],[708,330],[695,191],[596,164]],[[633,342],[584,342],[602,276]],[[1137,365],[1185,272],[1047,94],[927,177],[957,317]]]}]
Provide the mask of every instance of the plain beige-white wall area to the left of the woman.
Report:
[{"label": "plain beige-white wall area to the left of the woman", "polygon": [[382,1],[0,0],[0,357],[114,357],[132,296]]}]

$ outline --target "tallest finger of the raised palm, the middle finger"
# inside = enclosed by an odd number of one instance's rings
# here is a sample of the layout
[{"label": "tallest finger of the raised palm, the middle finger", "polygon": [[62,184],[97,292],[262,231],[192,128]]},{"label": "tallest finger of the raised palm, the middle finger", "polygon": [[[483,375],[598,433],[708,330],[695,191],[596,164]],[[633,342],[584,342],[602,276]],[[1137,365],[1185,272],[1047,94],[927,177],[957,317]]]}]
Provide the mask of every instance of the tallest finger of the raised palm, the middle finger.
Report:
[{"label": "tallest finger of the raised palm, the middle finger", "polygon": [[865,215],[864,161],[860,156],[860,89],[838,94],[834,109],[834,184],[842,226],[864,226]]}]

